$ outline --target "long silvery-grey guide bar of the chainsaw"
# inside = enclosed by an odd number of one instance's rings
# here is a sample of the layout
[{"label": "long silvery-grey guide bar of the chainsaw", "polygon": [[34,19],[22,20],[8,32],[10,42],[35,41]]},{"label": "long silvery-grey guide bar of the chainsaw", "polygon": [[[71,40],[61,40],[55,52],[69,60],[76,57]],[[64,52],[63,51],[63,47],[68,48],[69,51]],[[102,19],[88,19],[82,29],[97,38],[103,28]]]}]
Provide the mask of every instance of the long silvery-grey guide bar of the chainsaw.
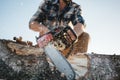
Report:
[{"label": "long silvery-grey guide bar of the chainsaw", "polygon": [[75,79],[75,72],[70,65],[70,63],[66,60],[64,56],[58,51],[52,43],[49,43],[44,47],[46,55],[51,59],[52,63],[55,67],[61,72],[64,73],[67,77],[67,80]]}]

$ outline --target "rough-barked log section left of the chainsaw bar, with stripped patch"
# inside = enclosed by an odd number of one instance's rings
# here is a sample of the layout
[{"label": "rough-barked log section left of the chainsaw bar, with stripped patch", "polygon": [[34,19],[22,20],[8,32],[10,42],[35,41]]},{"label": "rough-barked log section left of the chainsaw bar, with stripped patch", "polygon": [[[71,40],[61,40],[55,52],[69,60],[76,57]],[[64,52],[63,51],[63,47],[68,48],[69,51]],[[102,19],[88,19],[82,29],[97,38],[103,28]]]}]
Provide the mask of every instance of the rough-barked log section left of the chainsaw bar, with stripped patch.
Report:
[{"label": "rough-barked log section left of the chainsaw bar, with stripped patch", "polygon": [[42,49],[0,40],[0,79],[66,80],[66,77],[49,66]]}]

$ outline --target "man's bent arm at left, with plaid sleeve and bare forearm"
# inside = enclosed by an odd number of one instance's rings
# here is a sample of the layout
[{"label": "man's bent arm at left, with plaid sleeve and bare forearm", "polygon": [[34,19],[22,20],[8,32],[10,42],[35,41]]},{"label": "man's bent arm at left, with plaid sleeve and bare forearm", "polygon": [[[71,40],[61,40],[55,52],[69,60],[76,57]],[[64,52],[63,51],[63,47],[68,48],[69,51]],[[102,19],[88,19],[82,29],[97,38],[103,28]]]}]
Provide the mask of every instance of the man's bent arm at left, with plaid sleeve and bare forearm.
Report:
[{"label": "man's bent arm at left, with plaid sleeve and bare forearm", "polygon": [[44,11],[41,9],[44,5],[45,4],[43,3],[39,6],[38,10],[29,21],[29,28],[33,31],[40,32],[40,35],[49,31],[48,28],[42,24],[43,20],[46,18]]}]

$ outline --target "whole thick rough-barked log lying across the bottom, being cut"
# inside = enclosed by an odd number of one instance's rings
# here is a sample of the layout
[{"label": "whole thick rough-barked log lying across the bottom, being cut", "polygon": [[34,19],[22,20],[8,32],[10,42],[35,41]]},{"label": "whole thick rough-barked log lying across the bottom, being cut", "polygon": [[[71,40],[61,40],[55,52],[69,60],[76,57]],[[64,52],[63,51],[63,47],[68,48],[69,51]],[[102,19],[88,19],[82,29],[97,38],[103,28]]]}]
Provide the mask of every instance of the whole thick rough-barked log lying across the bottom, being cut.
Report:
[{"label": "whole thick rough-barked log lying across the bottom, being cut", "polygon": [[[70,55],[76,80],[120,80],[120,55]],[[0,80],[67,80],[43,49],[0,39]]]}]

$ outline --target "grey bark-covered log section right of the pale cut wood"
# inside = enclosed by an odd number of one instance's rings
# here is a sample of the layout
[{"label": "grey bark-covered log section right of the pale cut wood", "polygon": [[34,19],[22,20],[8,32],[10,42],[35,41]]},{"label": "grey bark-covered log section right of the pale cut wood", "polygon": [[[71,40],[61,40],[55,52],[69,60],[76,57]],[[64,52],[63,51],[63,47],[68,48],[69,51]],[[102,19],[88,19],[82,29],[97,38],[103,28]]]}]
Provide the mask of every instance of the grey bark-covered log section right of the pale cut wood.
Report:
[{"label": "grey bark-covered log section right of the pale cut wood", "polygon": [[120,80],[120,55],[91,54],[88,79]]}]

